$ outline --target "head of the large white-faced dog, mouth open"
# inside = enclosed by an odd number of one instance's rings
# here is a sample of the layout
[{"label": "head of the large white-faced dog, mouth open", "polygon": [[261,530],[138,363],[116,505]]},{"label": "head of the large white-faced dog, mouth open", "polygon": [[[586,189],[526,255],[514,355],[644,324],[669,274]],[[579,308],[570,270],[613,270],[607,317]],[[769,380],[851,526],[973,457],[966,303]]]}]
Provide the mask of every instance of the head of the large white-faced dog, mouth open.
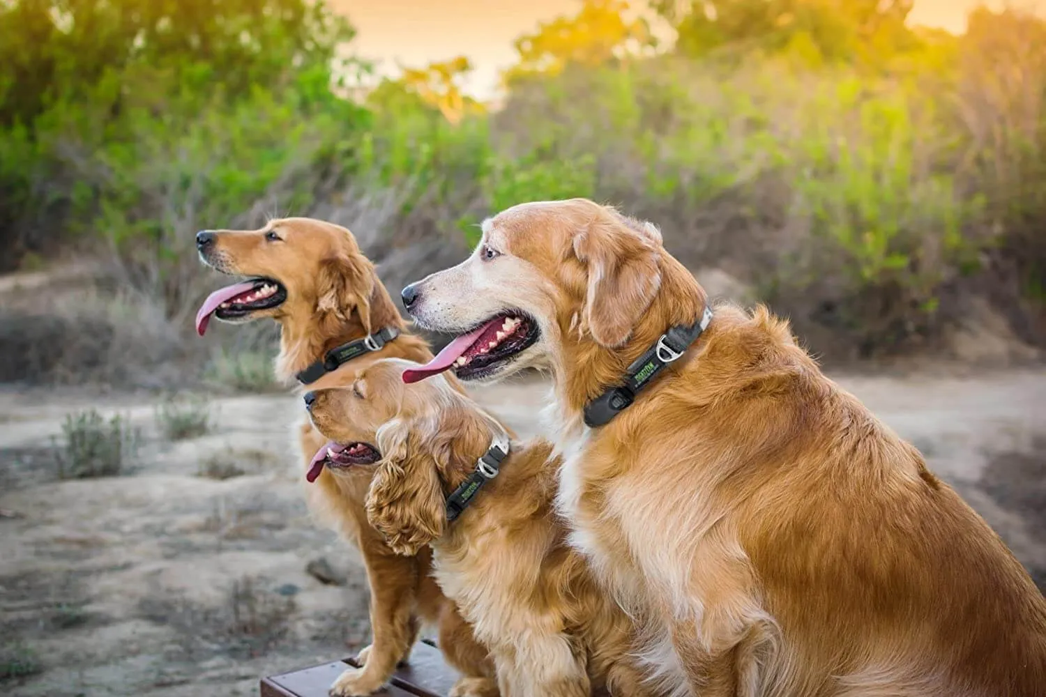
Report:
[{"label": "head of the large white-faced dog, mouth open", "polygon": [[[457,334],[408,379],[453,368],[495,380],[527,367],[554,367],[568,344],[617,349],[647,320],[689,308],[652,305],[667,272],[685,270],[654,225],[585,199],[521,204],[483,223],[472,256],[404,288],[408,311],[428,329]],[[670,262],[670,263],[669,263]],[[684,295],[704,294],[689,278]],[[693,321],[693,318],[689,318]]]}]

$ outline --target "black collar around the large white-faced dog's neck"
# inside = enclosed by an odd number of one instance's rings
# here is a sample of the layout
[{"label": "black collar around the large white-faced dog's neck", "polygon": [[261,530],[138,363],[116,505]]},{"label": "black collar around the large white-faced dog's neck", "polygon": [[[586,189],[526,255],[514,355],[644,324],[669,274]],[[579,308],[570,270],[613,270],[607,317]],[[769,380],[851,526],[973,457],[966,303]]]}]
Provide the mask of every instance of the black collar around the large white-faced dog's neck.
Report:
[{"label": "black collar around the large white-faced dog's neck", "polygon": [[602,426],[632,404],[639,391],[650,385],[665,366],[683,357],[686,349],[698,341],[712,321],[712,310],[705,311],[695,324],[676,326],[661,334],[657,344],[646,350],[624,371],[624,385],[611,388],[585,405],[585,425]]}]

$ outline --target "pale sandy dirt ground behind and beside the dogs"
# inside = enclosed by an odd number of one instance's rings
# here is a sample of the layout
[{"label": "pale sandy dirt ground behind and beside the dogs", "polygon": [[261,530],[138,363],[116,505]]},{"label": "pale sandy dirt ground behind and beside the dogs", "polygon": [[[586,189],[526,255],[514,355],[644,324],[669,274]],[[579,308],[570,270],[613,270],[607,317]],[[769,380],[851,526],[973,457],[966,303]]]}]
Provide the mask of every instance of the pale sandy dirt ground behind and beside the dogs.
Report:
[{"label": "pale sandy dirt ground behind and beside the dogs", "polygon": [[[1042,370],[837,378],[1046,584]],[[546,398],[533,380],[477,394],[524,436]],[[60,481],[50,438],[87,408],[127,415],[142,446],[119,477]],[[264,674],[367,641],[358,558],[302,501],[290,433],[298,399],[220,399],[211,412],[211,433],[168,441],[144,397],[0,391],[4,694],[252,695]],[[242,472],[201,475],[215,456]],[[324,573],[306,571],[321,559]]]}]

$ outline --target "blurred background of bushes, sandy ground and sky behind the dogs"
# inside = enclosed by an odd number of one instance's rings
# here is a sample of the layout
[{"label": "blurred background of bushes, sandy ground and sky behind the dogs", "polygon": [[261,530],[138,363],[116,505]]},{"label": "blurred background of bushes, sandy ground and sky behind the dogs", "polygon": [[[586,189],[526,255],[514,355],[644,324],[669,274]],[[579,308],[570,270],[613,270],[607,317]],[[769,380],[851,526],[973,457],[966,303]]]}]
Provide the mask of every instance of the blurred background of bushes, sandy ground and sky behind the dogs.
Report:
[{"label": "blurred background of bushes, sandy ground and sky behind the dogs", "polygon": [[[1046,585],[1046,21],[964,0],[0,0],[0,687],[249,695],[368,640],[275,328],[194,233],[348,227],[395,295],[513,204],[655,222]],[[537,380],[477,391],[535,433]]]}]

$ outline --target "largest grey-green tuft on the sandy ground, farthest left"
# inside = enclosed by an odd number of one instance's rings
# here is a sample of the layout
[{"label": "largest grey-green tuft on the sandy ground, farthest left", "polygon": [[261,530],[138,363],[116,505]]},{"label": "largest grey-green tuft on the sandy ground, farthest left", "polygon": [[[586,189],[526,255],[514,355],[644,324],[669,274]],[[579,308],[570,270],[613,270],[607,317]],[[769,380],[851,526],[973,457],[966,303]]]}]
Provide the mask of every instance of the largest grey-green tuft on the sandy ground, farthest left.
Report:
[{"label": "largest grey-green tuft on the sandy ground, farthest left", "polygon": [[140,434],[127,417],[108,421],[96,410],[68,414],[62,424],[62,442],[55,444],[59,479],[115,477],[123,461],[138,449]]}]

